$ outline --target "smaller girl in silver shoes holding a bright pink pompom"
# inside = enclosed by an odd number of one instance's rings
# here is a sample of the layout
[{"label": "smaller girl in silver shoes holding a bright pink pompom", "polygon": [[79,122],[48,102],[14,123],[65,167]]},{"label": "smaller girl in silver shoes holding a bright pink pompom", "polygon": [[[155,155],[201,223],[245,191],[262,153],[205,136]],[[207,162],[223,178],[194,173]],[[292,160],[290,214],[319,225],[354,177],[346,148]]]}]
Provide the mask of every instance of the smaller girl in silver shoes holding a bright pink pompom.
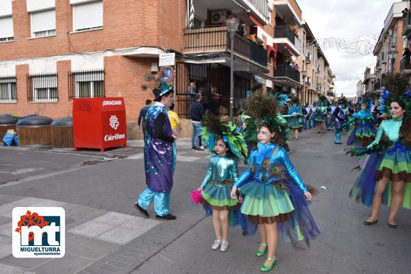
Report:
[{"label": "smaller girl in silver shoes holding a bright pink pompom", "polygon": [[[216,238],[211,248],[227,251],[229,224],[239,223],[238,198],[231,199],[230,192],[238,178],[238,159],[247,158],[247,145],[236,126],[225,124],[209,111],[203,115],[203,141],[215,155],[210,158],[208,172],[199,191],[206,215],[212,215]],[[221,233],[222,232],[222,233]]]}]

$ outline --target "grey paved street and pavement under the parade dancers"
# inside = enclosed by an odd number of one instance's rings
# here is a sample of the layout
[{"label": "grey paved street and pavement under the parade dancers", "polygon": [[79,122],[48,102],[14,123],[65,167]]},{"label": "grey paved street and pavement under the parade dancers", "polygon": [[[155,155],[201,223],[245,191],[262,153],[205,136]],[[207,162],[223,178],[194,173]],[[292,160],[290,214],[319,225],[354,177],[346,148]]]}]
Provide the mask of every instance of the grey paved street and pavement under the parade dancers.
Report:
[{"label": "grey paved street and pavement under the parade dancers", "polygon": [[[393,230],[383,206],[379,223],[364,226],[369,208],[348,197],[358,174],[351,169],[358,162],[345,154],[347,146],[333,141],[332,131],[311,130],[290,143],[292,163],[306,184],[319,189],[310,210],[321,235],[306,251],[295,251],[279,236],[272,273],[410,274],[410,213],[401,210]],[[264,259],[254,255],[258,235],[242,236],[240,228],[230,228],[228,251],[210,248],[212,219],[190,201],[190,191],[206,174],[210,153],[191,150],[188,139],[177,140],[177,147],[173,221],[155,219],[152,206],[149,219],[143,219],[133,206],[146,187],[139,141],[129,142],[127,157],[116,156],[116,150],[109,157],[0,147],[0,273],[260,273]],[[65,209],[64,258],[12,256],[16,206]]]}]

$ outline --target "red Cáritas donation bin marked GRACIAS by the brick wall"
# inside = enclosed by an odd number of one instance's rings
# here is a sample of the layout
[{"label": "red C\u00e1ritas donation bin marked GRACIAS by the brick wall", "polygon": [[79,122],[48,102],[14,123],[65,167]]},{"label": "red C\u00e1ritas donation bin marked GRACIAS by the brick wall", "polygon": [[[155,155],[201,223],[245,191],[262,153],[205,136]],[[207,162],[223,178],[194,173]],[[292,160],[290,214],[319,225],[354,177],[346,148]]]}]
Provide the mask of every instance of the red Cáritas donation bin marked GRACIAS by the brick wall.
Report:
[{"label": "red C\u00e1ritas donation bin marked GRACIAS by the brick wall", "polygon": [[123,98],[78,98],[73,101],[74,150],[127,146]]}]

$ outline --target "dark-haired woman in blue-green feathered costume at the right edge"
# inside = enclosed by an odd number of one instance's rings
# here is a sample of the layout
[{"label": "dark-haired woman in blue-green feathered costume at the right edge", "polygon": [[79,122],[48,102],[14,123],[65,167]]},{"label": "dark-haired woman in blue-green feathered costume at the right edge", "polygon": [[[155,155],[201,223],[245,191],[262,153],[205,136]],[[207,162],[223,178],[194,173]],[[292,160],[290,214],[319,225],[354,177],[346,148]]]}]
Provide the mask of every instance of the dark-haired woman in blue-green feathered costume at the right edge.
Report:
[{"label": "dark-haired woman in blue-green feathered costume at the right edge", "polygon": [[411,90],[406,93],[384,92],[382,113],[389,109],[389,120],[378,128],[375,141],[366,148],[354,148],[353,154],[371,154],[351,189],[357,202],[371,206],[371,217],[364,225],[378,221],[381,204],[390,206],[388,227],[397,228],[395,217],[402,207],[411,209]]}]

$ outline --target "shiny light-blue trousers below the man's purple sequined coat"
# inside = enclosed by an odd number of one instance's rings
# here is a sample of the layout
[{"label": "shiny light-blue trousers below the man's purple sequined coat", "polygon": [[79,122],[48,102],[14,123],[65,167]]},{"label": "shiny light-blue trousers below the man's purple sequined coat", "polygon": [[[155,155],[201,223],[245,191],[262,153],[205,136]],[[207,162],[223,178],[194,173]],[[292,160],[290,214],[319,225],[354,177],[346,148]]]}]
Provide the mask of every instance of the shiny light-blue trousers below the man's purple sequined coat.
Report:
[{"label": "shiny light-blue trousers below the man's purple sequined coat", "polygon": [[154,211],[157,215],[166,216],[169,214],[170,193],[162,193],[146,189],[138,197],[138,205],[147,210],[150,203],[154,200]]}]

